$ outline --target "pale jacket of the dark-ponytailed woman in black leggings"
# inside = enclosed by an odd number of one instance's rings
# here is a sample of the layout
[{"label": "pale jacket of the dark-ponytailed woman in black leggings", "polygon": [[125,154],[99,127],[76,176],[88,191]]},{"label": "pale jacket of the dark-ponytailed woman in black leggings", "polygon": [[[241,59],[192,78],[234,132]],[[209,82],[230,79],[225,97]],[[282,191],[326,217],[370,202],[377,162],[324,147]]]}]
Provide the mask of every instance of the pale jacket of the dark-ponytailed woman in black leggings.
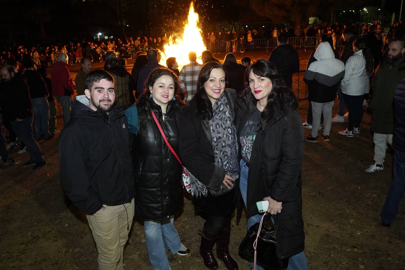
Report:
[{"label": "pale jacket of the dark-ponytailed woman in black leggings", "polygon": [[342,93],[361,96],[370,91],[369,76],[366,72],[366,59],[363,50],[356,51],[346,62],[345,77],[341,81]]}]

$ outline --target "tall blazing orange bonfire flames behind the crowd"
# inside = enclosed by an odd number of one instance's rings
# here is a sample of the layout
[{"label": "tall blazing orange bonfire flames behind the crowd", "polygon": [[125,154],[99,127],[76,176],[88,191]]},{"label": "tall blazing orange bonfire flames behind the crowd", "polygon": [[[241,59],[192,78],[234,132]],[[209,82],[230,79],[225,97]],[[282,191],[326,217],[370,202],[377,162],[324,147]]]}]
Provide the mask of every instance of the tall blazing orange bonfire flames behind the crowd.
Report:
[{"label": "tall blazing orange bonfire flames behind the crowd", "polygon": [[198,28],[198,14],[194,12],[194,4],[190,3],[190,10],[188,11],[188,23],[184,26],[183,36],[181,38],[174,38],[173,34],[169,36],[168,44],[164,45],[163,52],[161,51],[160,63],[166,66],[166,59],[168,57],[176,57],[179,70],[185,65],[190,63],[188,60],[188,53],[195,51],[197,54],[197,62],[201,62],[201,53],[207,48],[204,45],[201,36],[201,29]]}]

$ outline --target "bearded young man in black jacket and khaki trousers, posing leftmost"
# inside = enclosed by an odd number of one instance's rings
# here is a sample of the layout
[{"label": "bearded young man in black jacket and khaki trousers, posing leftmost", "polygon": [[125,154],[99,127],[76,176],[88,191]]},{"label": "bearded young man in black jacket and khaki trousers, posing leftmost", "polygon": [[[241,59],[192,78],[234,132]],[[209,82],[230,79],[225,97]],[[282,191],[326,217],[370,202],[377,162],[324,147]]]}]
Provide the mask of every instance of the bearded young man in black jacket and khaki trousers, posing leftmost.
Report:
[{"label": "bearded young man in black jacket and khaki trousers, posing leftmost", "polygon": [[60,136],[60,182],[87,214],[98,269],[123,269],[124,245],[134,217],[134,173],[124,110],[114,106],[114,79],[94,70],[85,79]]}]

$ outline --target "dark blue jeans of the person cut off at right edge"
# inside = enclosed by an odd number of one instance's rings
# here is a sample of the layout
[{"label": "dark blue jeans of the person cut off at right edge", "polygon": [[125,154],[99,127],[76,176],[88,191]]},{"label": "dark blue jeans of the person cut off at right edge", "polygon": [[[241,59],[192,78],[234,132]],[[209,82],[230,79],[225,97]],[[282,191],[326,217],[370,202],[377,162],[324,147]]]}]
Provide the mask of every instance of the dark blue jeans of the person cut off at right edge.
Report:
[{"label": "dark blue jeans of the person cut off at right edge", "polygon": [[394,151],[394,176],[381,212],[381,221],[390,224],[398,214],[405,191],[405,152]]}]

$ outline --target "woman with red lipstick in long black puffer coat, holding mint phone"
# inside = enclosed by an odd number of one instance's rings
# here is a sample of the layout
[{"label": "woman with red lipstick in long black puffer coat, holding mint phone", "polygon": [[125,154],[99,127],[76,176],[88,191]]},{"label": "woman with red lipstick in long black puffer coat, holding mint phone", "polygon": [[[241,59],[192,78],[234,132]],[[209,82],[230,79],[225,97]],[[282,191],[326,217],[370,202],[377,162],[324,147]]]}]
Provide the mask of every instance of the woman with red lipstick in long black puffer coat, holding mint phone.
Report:
[{"label": "woman with red lipstick in long black puffer coat, holding mint phone", "polygon": [[298,102],[269,61],[258,60],[249,66],[245,83],[235,125],[241,157],[239,188],[249,217],[247,227],[249,229],[262,218],[256,202],[267,200],[267,212],[278,213],[279,218],[277,257],[290,258],[288,270],[309,269],[303,253],[301,167],[304,131],[296,111]]}]

